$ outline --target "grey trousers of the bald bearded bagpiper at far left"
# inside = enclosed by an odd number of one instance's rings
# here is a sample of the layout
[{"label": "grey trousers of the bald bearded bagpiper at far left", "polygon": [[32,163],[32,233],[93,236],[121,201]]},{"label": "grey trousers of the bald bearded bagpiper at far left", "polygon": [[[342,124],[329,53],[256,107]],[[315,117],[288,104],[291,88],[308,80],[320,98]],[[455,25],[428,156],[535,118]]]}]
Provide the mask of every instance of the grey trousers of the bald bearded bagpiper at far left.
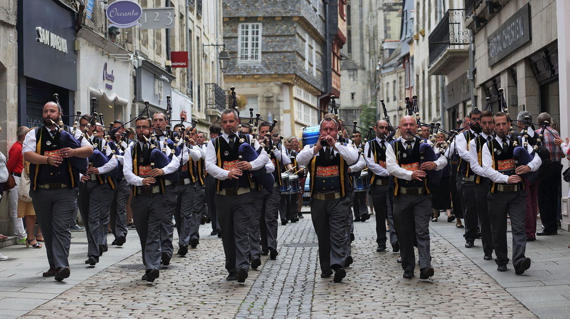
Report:
[{"label": "grey trousers of the bald bearded bagpiper at far left", "polygon": [[30,189],[32,205],[42,229],[50,268],[69,267],[70,223],[77,205],[77,187],[56,190]]}]

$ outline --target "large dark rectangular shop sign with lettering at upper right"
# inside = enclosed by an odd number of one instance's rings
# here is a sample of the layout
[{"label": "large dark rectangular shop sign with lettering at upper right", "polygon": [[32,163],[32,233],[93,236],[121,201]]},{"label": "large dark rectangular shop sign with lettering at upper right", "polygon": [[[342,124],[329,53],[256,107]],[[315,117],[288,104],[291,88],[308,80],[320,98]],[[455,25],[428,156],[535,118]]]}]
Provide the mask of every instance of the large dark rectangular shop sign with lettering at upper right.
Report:
[{"label": "large dark rectangular shop sign with lettering at upper right", "polygon": [[487,38],[489,66],[531,40],[530,13],[530,4],[527,3]]}]

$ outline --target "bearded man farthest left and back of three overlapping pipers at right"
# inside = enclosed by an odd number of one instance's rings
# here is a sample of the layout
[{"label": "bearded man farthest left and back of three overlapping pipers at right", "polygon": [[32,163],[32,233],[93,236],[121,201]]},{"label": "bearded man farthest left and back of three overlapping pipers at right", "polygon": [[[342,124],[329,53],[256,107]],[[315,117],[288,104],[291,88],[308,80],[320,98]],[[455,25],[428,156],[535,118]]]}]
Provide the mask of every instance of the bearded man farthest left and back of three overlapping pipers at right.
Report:
[{"label": "bearded man farthest left and back of three overlapping pipers at right", "polygon": [[469,142],[481,134],[481,111],[475,108],[469,113],[470,129],[455,137],[455,149],[459,159],[458,174],[461,174],[461,188],[465,203],[465,248],[472,248],[475,239],[479,237],[479,219],[477,218],[477,199],[475,196],[475,175],[471,170]]}]

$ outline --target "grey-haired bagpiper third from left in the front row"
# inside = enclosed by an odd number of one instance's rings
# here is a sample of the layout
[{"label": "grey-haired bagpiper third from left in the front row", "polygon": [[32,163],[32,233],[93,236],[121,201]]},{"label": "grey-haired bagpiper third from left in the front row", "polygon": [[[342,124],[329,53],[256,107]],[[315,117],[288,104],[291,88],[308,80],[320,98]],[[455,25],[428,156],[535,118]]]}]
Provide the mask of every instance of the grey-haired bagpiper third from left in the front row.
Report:
[{"label": "grey-haired bagpiper third from left in the front row", "polygon": [[[216,212],[222,231],[223,251],[226,257],[226,280],[243,283],[249,271],[250,201],[253,184],[247,171],[258,170],[267,163],[267,153],[262,150],[251,162],[240,161],[237,136],[239,116],[234,109],[222,112],[223,134],[208,143],[206,149],[206,171],[217,181],[215,197]],[[245,136],[254,149],[259,149],[257,140]],[[244,173],[244,171],[246,171]]]}]

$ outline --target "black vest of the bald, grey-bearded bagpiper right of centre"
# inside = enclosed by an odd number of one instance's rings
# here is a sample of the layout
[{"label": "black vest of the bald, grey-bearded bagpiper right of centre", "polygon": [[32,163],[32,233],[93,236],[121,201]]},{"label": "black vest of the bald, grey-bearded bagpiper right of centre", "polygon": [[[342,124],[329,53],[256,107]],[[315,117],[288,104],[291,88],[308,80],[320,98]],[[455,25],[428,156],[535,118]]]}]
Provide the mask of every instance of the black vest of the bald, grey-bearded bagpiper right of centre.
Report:
[{"label": "black vest of the bald, grey-bearded bagpiper right of centre", "polygon": [[[394,154],[396,154],[396,162],[398,163],[398,166],[409,171],[420,169],[422,164],[420,158],[420,141],[421,140],[418,138],[415,139],[414,147],[412,148],[412,153],[410,155],[406,154],[406,147],[402,144],[400,139],[390,142],[394,149]],[[407,179],[394,177],[394,196],[400,194],[400,187],[424,187],[427,194],[430,193],[429,188],[427,187],[427,176],[424,178],[424,181],[417,181],[416,179],[408,181]]]}]

